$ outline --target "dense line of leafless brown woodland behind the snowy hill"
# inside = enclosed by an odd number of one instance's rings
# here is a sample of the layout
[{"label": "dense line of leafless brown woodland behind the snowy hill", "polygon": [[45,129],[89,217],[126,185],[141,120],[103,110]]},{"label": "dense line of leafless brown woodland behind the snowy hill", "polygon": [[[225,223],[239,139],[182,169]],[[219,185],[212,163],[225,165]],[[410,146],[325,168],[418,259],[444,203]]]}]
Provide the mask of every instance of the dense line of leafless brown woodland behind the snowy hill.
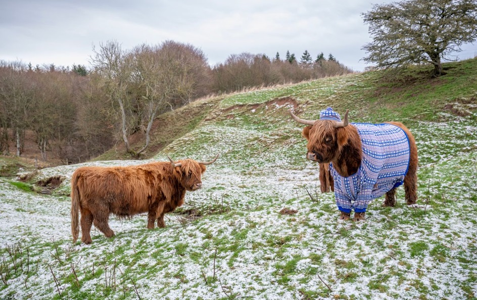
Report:
[{"label": "dense line of leafless brown woodland behind the snowy hill", "polygon": [[[90,69],[0,61],[3,154],[21,156],[29,132],[43,160],[83,161],[118,142],[139,158],[150,143],[155,117],[190,101],[351,72],[331,54],[325,59],[321,53],[313,61],[307,51],[300,62],[289,52],[283,60],[278,53],[273,60],[242,53],[210,67],[200,49],[170,40],[131,50],[108,41],[93,53]],[[144,144],[134,148],[132,134],[144,136]]]}]

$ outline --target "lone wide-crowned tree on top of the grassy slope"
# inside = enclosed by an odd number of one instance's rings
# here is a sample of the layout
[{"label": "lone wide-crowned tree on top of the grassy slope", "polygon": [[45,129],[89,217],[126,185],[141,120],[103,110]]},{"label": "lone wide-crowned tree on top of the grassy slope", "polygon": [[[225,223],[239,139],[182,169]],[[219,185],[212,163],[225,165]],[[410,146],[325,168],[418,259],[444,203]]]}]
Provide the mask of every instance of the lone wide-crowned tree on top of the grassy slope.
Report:
[{"label": "lone wide-crowned tree on top of the grassy slope", "polygon": [[365,62],[379,68],[430,63],[432,75],[443,73],[441,59],[477,38],[475,0],[407,0],[374,5],[362,14],[372,41],[363,47]]}]

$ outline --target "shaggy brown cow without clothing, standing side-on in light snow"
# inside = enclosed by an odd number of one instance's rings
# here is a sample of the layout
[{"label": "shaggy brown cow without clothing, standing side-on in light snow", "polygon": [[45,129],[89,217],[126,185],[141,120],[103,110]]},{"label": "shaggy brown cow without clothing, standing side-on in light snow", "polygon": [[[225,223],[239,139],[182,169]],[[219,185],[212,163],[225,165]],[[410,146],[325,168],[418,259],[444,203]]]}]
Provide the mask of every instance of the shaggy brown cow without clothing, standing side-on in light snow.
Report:
[{"label": "shaggy brown cow without clothing, standing side-on in light snow", "polygon": [[202,187],[201,175],[209,162],[192,159],[152,162],[135,166],[80,167],[71,178],[71,233],[78,239],[81,211],[81,241],[91,243],[91,224],[106,237],[114,236],[108,225],[111,214],[132,217],[148,212],[148,228],[166,227],[164,214],[184,203],[185,191]]}]

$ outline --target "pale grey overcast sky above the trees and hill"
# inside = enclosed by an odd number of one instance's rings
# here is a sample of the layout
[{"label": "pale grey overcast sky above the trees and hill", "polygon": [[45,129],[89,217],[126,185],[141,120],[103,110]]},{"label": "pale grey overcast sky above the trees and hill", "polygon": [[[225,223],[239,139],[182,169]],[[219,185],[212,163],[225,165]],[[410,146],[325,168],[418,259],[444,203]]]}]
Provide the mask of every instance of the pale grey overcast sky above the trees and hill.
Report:
[{"label": "pale grey overcast sky above the trees and hill", "polygon": [[[0,60],[89,66],[92,47],[123,49],[174,40],[201,49],[211,66],[231,54],[299,60],[332,54],[362,71],[371,41],[361,13],[390,0],[0,0]],[[460,59],[477,56],[466,45]]]}]

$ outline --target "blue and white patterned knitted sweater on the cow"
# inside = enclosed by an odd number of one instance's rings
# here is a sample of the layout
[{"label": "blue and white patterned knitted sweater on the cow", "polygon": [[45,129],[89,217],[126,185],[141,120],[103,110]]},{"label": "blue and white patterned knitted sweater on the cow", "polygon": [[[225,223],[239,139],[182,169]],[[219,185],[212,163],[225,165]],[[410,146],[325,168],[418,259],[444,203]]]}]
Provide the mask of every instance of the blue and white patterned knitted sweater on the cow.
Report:
[{"label": "blue and white patterned knitted sweater on the cow", "polygon": [[403,184],[409,167],[409,139],[398,126],[391,124],[350,123],[362,143],[362,160],[358,172],[343,177],[333,168],[335,198],[344,212],[364,212],[372,199],[383,196]]}]

